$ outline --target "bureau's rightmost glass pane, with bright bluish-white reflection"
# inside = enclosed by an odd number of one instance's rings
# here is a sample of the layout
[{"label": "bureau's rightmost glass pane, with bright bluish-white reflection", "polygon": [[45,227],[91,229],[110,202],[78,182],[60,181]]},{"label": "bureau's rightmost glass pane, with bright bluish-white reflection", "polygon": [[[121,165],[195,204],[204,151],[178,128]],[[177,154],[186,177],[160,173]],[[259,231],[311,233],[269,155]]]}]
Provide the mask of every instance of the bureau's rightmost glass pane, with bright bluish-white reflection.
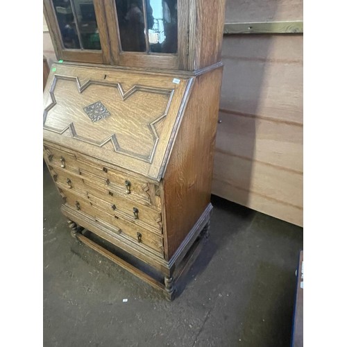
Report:
[{"label": "bureau's rightmost glass pane, with bright bluish-white reflection", "polygon": [[177,0],[146,0],[149,49],[177,53]]}]

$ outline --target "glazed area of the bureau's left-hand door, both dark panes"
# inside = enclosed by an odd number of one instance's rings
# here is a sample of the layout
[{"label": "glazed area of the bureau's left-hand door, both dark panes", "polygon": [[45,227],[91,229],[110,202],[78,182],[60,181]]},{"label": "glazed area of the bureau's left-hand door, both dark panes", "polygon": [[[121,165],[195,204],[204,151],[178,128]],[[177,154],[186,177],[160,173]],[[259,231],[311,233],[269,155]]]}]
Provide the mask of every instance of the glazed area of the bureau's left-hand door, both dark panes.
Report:
[{"label": "glazed area of the bureau's left-hand door, both dark panes", "polygon": [[67,49],[101,49],[93,0],[52,0]]}]

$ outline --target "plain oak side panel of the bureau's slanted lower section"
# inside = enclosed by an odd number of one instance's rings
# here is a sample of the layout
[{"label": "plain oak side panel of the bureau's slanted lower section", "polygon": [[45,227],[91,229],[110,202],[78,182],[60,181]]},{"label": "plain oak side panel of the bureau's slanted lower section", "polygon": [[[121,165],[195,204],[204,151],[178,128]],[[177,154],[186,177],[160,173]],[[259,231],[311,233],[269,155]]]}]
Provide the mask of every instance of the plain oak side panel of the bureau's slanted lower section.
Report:
[{"label": "plain oak side panel of the bureau's slanted lower section", "polygon": [[196,78],[162,180],[167,260],[210,203],[222,69]]}]

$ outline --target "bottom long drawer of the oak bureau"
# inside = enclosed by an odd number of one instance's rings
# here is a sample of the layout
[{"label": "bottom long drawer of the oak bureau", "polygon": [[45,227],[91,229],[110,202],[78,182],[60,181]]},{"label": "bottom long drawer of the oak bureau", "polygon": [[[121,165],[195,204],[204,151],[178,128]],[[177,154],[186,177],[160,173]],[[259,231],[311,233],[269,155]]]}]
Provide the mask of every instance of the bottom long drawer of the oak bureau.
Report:
[{"label": "bottom long drawer of the oak bureau", "polygon": [[163,241],[160,235],[120,219],[116,214],[105,212],[91,201],[86,201],[84,196],[74,194],[70,190],[60,189],[60,194],[64,203],[69,205],[70,208],[84,212],[96,222],[112,226],[117,235],[126,237],[138,246],[150,248],[163,255]]}]

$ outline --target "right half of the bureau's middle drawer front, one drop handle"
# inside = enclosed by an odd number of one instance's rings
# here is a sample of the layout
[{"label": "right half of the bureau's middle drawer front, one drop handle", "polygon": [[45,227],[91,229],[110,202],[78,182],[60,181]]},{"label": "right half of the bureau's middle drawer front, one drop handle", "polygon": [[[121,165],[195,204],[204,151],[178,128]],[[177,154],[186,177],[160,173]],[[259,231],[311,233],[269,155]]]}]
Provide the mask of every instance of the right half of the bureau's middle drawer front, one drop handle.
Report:
[{"label": "right half of the bureau's middle drawer front, one drop handle", "polygon": [[115,214],[137,226],[162,234],[162,218],[158,210],[153,210],[117,194],[102,193],[94,189],[87,189],[87,196],[93,205],[99,206],[105,212]]}]

